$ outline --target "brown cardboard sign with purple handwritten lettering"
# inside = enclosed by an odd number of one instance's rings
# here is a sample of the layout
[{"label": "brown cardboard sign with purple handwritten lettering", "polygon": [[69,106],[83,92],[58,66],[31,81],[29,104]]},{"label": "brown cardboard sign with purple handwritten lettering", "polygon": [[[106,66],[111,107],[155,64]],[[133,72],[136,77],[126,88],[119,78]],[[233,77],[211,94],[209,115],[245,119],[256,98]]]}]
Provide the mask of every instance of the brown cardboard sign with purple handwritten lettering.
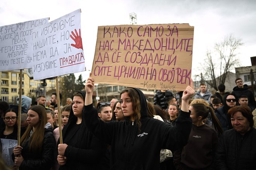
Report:
[{"label": "brown cardboard sign with purple handwritten lettering", "polygon": [[98,27],[95,83],[184,90],[190,83],[194,27],[189,24]]}]

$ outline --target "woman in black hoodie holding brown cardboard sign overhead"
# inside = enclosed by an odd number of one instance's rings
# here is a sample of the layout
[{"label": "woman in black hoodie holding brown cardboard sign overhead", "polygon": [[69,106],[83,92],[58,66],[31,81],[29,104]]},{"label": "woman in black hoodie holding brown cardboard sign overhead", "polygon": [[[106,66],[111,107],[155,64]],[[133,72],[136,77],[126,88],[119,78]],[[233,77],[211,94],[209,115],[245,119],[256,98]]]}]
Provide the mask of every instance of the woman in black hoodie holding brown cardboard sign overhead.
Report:
[{"label": "woman in black hoodie holding brown cardboard sign overhead", "polygon": [[88,78],[85,123],[92,133],[111,145],[111,170],[157,170],[161,149],[173,151],[186,145],[192,127],[188,101],[195,92],[193,83],[183,93],[182,111],[174,127],[147,116],[147,101],[138,88],[121,92],[125,121],[99,121],[92,104],[93,87],[93,79]]}]

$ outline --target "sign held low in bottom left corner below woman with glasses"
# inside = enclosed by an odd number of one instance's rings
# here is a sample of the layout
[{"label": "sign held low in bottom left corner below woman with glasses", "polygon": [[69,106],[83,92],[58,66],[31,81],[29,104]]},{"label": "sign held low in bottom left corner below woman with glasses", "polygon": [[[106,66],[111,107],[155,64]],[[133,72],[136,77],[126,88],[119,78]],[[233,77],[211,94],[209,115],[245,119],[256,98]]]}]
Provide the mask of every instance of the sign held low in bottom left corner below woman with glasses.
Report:
[{"label": "sign held low in bottom left corner below woman with glasses", "polygon": [[6,165],[11,167],[14,165],[12,161],[12,151],[15,146],[17,146],[17,140],[13,139],[2,139],[2,157]]}]

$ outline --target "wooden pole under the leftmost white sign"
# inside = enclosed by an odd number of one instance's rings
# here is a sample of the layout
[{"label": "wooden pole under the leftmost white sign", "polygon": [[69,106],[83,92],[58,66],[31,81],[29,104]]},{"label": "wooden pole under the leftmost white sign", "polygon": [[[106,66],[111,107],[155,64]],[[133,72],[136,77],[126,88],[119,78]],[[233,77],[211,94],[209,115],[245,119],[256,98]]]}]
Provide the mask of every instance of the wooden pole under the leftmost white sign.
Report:
[{"label": "wooden pole under the leftmost white sign", "polygon": [[[21,95],[22,95],[22,69],[19,71],[19,113],[18,113],[18,136],[17,145],[21,145]],[[19,167],[16,167],[19,170]]]}]

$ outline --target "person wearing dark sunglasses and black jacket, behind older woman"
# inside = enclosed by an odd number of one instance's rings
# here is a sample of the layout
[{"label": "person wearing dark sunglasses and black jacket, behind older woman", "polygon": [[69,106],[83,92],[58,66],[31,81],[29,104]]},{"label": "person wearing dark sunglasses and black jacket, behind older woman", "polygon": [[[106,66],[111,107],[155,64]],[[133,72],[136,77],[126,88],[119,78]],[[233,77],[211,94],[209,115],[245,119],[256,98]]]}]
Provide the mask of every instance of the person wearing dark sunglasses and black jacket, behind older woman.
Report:
[{"label": "person wearing dark sunglasses and black jacket, behind older woman", "polygon": [[228,116],[228,110],[231,107],[235,107],[238,102],[235,94],[227,94],[223,99],[223,106],[215,110],[216,117],[219,119],[223,131],[232,129],[230,117]]}]

